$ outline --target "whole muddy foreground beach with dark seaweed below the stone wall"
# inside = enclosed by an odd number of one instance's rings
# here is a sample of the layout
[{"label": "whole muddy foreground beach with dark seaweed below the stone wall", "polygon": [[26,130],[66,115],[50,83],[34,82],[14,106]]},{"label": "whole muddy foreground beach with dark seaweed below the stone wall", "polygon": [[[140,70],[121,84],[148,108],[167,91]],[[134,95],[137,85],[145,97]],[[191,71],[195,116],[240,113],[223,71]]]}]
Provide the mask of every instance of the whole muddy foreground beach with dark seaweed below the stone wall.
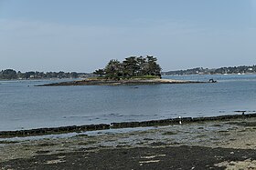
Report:
[{"label": "whole muddy foreground beach with dark seaweed below the stone wall", "polygon": [[3,139],[2,169],[256,169],[256,118]]}]

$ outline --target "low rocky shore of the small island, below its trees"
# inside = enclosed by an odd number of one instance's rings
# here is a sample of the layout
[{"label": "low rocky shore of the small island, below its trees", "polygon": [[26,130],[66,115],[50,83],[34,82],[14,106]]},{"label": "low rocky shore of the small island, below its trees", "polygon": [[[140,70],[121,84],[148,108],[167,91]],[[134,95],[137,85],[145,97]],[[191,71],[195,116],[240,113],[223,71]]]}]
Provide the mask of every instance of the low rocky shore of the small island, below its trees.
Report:
[{"label": "low rocky shore of the small island, below its trees", "polygon": [[79,81],[60,82],[36,86],[67,86],[67,85],[160,85],[160,84],[198,84],[211,83],[199,81],[171,80],[171,79],[130,79],[130,80],[97,80],[85,79]]}]

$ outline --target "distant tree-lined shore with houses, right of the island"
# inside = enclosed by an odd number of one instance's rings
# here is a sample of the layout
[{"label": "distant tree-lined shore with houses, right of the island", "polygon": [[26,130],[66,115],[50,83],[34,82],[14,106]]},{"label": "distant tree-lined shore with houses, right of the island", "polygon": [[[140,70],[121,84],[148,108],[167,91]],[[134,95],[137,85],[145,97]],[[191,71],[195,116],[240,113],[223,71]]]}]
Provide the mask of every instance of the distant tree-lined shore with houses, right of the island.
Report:
[{"label": "distant tree-lined shore with houses, right of the island", "polygon": [[255,74],[256,65],[252,66],[229,66],[217,69],[197,67],[187,70],[163,72],[162,75],[217,75],[217,74]]}]

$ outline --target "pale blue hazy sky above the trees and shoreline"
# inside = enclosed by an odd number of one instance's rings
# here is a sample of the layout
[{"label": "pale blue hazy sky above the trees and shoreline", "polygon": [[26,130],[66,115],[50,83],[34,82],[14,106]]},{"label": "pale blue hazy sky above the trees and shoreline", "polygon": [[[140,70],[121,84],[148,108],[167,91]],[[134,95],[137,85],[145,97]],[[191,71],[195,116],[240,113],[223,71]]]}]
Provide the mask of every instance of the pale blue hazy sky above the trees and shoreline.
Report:
[{"label": "pale blue hazy sky above the trees and shoreline", "polygon": [[0,0],[0,70],[93,72],[154,55],[163,71],[256,65],[256,0]]}]

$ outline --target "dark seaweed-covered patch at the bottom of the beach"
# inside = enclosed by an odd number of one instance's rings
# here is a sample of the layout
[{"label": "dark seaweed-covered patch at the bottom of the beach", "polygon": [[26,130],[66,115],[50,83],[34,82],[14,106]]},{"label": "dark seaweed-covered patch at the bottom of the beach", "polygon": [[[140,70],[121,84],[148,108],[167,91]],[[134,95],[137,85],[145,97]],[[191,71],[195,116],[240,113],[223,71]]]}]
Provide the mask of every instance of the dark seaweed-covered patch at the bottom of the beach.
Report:
[{"label": "dark seaweed-covered patch at the bottom of the beach", "polygon": [[[255,150],[204,146],[87,149],[57,155],[37,155],[0,163],[3,169],[218,169],[227,161],[255,160]],[[252,169],[252,168],[251,168]]]}]

